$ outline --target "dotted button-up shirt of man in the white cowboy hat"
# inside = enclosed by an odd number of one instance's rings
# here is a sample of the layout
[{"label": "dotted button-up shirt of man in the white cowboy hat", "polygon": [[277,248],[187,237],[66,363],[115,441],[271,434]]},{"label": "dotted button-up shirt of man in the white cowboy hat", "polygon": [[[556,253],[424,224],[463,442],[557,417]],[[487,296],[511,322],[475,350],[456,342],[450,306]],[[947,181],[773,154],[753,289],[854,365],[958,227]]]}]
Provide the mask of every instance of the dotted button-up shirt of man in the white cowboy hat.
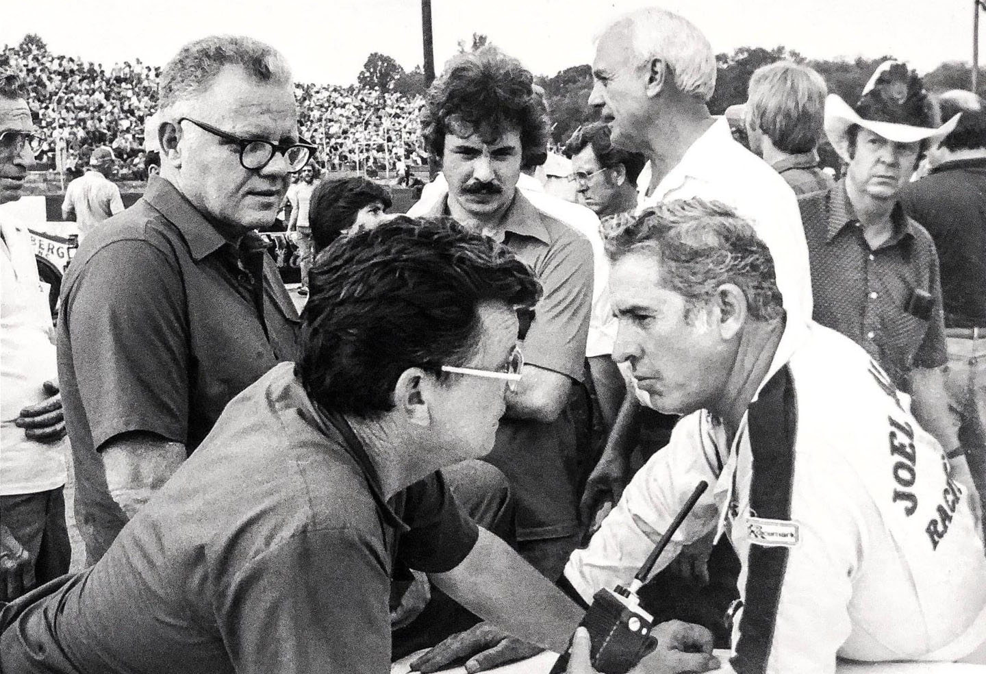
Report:
[{"label": "dotted button-up shirt of man in the white cowboy hat", "polygon": [[[931,236],[899,204],[894,232],[871,250],[845,181],[799,200],[811,264],[814,320],[860,344],[909,393],[916,367],[948,360],[938,255]],[[925,311],[915,290],[927,293]]]}]

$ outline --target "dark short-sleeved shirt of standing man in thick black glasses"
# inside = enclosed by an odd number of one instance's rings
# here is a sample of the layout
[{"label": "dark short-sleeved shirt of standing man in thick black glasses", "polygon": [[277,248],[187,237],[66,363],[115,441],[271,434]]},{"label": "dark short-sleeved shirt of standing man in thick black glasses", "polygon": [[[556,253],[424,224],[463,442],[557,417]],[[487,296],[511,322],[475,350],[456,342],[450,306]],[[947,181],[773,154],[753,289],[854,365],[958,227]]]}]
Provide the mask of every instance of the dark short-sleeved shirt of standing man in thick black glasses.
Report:
[{"label": "dark short-sleeved shirt of standing man in thick black glasses", "polygon": [[238,249],[165,180],[86,238],[62,282],[58,376],[89,562],[126,523],[100,448],[149,431],[192,452],[234,396],[295,359],[298,325],[262,240]]}]

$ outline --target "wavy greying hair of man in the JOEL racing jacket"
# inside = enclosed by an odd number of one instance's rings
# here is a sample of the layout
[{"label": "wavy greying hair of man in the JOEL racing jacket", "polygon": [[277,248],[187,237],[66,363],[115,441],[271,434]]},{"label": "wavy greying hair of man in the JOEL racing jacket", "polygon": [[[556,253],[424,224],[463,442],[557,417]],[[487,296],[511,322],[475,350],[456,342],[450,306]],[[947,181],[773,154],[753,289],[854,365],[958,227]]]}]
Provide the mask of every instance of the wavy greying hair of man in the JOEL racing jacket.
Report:
[{"label": "wavy greying hair of man in the JOEL racing jacket", "polygon": [[606,220],[611,262],[645,252],[661,265],[661,284],[687,303],[686,318],[723,283],[740,287],[749,316],[771,321],[783,312],[774,259],[753,227],[730,206],[700,197],[674,199]]}]

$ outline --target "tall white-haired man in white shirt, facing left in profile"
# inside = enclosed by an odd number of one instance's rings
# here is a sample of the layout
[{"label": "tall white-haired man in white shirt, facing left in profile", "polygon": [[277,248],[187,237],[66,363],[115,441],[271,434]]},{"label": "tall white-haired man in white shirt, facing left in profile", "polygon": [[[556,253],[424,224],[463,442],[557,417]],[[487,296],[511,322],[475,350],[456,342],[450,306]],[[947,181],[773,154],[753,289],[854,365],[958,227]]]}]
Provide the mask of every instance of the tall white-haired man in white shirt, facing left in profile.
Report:
[{"label": "tall white-haired man in white shirt, facing left in profile", "polygon": [[[648,159],[637,185],[637,212],[670,199],[701,196],[736,208],[777,261],[777,285],[791,321],[811,318],[808,246],[794,192],[764,161],[733,139],[708,101],[716,58],[689,21],[644,8],[599,35],[589,103],[610,126],[613,145]],[[648,395],[637,397],[649,407]],[[610,443],[586,486],[584,511],[615,501],[630,477],[626,448]],[[608,495],[607,495],[608,494]]]}]

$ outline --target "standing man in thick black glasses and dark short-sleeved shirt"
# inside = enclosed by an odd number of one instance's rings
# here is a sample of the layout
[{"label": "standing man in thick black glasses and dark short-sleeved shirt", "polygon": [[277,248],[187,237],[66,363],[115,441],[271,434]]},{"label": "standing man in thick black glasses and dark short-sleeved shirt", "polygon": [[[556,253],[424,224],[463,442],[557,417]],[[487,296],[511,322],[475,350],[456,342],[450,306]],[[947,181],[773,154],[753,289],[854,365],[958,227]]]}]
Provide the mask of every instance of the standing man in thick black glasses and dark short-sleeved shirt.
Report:
[{"label": "standing man in thick black glasses and dark short-sleeved shirt", "polygon": [[254,231],[314,151],[287,63],[249,37],[189,42],[161,103],[161,177],[62,282],[58,372],[89,563],[226,404],[297,354],[298,313]]}]

